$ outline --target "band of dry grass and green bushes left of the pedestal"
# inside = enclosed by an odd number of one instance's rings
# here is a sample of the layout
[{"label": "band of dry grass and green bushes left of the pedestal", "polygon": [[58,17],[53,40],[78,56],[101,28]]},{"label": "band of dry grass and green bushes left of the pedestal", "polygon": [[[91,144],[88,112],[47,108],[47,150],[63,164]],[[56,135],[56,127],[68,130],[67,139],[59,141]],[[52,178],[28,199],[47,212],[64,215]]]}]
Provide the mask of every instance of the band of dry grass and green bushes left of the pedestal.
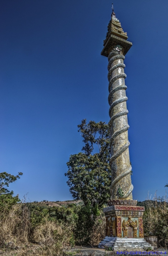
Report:
[{"label": "band of dry grass and green bushes left of the pedestal", "polygon": [[95,246],[104,237],[105,216],[101,210],[99,216],[96,213],[96,207],[89,205],[12,205],[0,212],[0,247],[17,255],[72,255],[67,246]]}]

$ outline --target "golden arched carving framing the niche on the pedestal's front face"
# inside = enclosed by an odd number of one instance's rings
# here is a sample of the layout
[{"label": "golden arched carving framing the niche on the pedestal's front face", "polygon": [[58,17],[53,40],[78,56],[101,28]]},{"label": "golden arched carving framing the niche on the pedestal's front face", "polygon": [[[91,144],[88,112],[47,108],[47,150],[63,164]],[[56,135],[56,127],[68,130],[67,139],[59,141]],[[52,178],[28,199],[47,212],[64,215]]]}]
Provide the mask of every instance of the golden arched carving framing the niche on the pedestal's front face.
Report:
[{"label": "golden arched carving framing the niche on the pedestal's front face", "polygon": [[128,220],[125,221],[123,220],[122,222],[122,230],[124,232],[124,237],[130,237],[130,235],[128,234],[128,229],[129,227],[132,227],[133,228],[133,236],[131,237],[134,237],[134,238],[137,238],[138,235],[137,235],[137,227],[138,227],[138,222],[137,220],[134,222],[133,220],[131,220],[131,216],[128,217]]}]

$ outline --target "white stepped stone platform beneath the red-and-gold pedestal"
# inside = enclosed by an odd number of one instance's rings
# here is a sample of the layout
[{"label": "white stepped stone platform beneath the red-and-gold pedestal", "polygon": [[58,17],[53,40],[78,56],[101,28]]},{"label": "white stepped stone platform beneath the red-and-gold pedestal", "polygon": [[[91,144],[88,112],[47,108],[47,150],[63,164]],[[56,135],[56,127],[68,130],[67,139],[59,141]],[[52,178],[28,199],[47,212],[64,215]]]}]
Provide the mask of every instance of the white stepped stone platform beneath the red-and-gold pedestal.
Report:
[{"label": "white stepped stone platform beneath the red-and-gold pedestal", "polygon": [[143,251],[145,247],[151,247],[144,238],[119,238],[119,237],[105,237],[99,243],[99,248],[108,249],[110,247],[115,251],[128,250],[129,251]]}]

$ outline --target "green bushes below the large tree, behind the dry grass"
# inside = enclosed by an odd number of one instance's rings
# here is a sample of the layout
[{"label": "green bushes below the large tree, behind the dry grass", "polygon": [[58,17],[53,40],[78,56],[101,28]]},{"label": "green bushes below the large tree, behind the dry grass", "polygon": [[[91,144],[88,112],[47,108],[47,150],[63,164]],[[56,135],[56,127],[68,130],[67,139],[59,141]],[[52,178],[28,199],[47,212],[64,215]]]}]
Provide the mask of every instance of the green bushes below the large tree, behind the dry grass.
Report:
[{"label": "green bushes below the large tree, behind the dry grass", "polygon": [[[37,230],[39,226],[45,225],[47,222],[59,222],[66,223],[71,226],[71,234],[69,235],[69,244],[73,246],[77,244],[93,244],[95,239],[99,240],[101,228],[97,235],[94,235],[94,241],[92,231],[94,233],[98,230],[98,227],[104,225],[102,221],[105,219],[104,214],[97,206],[91,207],[89,205],[75,205],[69,204],[65,207],[48,207],[38,206],[32,203],[27,204],[30,211],[31,232]],[[99,222],[98,220],[101,219]],[[97,224],[96,224],[97,223]],[[103,224],[102,224],[103,223]],[[103,228],[104,232],[104,228]],[[98,237],[98,238],[97,238]]]}]

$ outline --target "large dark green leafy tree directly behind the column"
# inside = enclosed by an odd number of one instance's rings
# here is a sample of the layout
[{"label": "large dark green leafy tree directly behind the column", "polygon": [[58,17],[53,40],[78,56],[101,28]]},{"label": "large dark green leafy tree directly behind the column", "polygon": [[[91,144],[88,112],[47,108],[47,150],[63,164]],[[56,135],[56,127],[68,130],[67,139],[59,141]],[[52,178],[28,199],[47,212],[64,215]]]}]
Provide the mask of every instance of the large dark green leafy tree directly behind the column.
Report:
[{"label": "large dark green leafy tree directly behind the column", "polygon": [[110,198],[109,125],[94,121],[87,124],[83,119],[78,128],[83,137],[83,152],[70,155],[66,163],[67,183],[74,199],[82,199],[85,205],[101,208]]}]

